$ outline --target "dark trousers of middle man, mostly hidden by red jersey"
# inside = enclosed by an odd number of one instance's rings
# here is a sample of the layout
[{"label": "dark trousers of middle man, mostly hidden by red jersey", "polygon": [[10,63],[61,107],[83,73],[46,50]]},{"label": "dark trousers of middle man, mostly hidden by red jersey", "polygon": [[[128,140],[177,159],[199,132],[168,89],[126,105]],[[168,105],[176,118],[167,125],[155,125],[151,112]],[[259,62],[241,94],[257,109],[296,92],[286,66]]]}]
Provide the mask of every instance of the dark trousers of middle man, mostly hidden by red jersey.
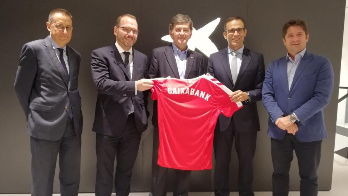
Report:
[{"label": "dark trousers of middle man, mostly hidden by red jersey", "polygon": [[[153,127],[153,150],[152,150],[152,196],[166,196],[167,173],[168,168],[157,164],[158,159],[159,136],[158,127]],[[175,169],[175,185],[173,196],[188,196],[190,188],[190,170]]]}]

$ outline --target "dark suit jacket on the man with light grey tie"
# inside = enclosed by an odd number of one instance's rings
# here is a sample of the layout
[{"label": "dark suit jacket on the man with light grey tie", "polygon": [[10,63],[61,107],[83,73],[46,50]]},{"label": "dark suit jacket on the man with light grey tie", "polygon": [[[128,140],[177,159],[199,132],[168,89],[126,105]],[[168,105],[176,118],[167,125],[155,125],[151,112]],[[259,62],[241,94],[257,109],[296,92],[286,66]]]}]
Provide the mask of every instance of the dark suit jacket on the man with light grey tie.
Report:
[{"label": "dark suit jacket on the man with light grey tie", "polygon": [[243,102],[243,108],[236,111],[232,117],[219,116],[220,131],[228,128],[231,119],[239,133],[250,133],[260,130],[260,122],[256,101],[261,100],[262,83],[264,80],[263,55],[244,47],[242,64],[237,76],[236,84],[232,81],[230,64],[228,62],[228,47],[209,57],[208,73],[232,91],[249,92],[251,101]]}]

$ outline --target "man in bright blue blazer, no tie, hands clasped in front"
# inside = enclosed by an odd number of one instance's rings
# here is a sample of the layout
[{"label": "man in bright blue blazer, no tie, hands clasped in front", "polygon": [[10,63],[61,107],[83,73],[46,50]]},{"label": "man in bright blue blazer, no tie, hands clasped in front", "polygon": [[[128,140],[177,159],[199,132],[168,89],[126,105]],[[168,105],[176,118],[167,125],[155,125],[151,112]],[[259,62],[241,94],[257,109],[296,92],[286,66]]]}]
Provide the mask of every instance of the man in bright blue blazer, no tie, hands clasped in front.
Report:
[{"label": "man in bright blue blazer, no tie, hands clasped in front", "polygon": [[301,196],[318,194],[317,169],[322,140],[327,137],[323,109],[329,104],[334,78],[330,60],[306,50],[308,39],[304,21],[285,23],[287,55],[268,65],[263,83],[274,196],[288,195],[293,150],[299,164]]}]

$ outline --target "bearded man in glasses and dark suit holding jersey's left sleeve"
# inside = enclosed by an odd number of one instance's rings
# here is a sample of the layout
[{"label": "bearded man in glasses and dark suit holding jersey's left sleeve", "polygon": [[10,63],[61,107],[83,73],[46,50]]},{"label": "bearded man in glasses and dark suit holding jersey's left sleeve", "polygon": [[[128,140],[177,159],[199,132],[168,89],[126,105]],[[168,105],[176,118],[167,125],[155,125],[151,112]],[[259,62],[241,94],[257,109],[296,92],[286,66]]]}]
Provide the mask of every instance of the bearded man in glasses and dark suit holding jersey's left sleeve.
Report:
[{"label": "bearded man in glasses and dark suit holding jersey's left sleeve", "polygon": [[132,48],[138,34],[133,15],[117,18],[116,42],[92,52],[92,77],[98,91],[93,131],[96,132],[96,196],[110,196],[115,154],[117,196],[129,194],[130,177],[141,133],[148,126],[142,91],[153,87],[143,79],[147,56]]}]

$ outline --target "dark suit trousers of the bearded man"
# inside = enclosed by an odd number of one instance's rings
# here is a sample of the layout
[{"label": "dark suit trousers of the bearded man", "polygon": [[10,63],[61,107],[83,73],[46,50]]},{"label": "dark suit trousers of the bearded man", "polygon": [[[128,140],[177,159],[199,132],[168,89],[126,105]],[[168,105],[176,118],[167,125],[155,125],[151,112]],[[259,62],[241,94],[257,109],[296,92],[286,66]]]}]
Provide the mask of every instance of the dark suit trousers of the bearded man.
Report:
[{"label": "dark suit trousers of the bearded man", "polygon": [[96,196],[110,196],[112,193],[115,157],[116,196],[129,195],[130,177],[138,154],[140,139],[141,133],[136,129],[134,114],[128,115],[125,130],[121,136],[112,137],[96,134]]}]

